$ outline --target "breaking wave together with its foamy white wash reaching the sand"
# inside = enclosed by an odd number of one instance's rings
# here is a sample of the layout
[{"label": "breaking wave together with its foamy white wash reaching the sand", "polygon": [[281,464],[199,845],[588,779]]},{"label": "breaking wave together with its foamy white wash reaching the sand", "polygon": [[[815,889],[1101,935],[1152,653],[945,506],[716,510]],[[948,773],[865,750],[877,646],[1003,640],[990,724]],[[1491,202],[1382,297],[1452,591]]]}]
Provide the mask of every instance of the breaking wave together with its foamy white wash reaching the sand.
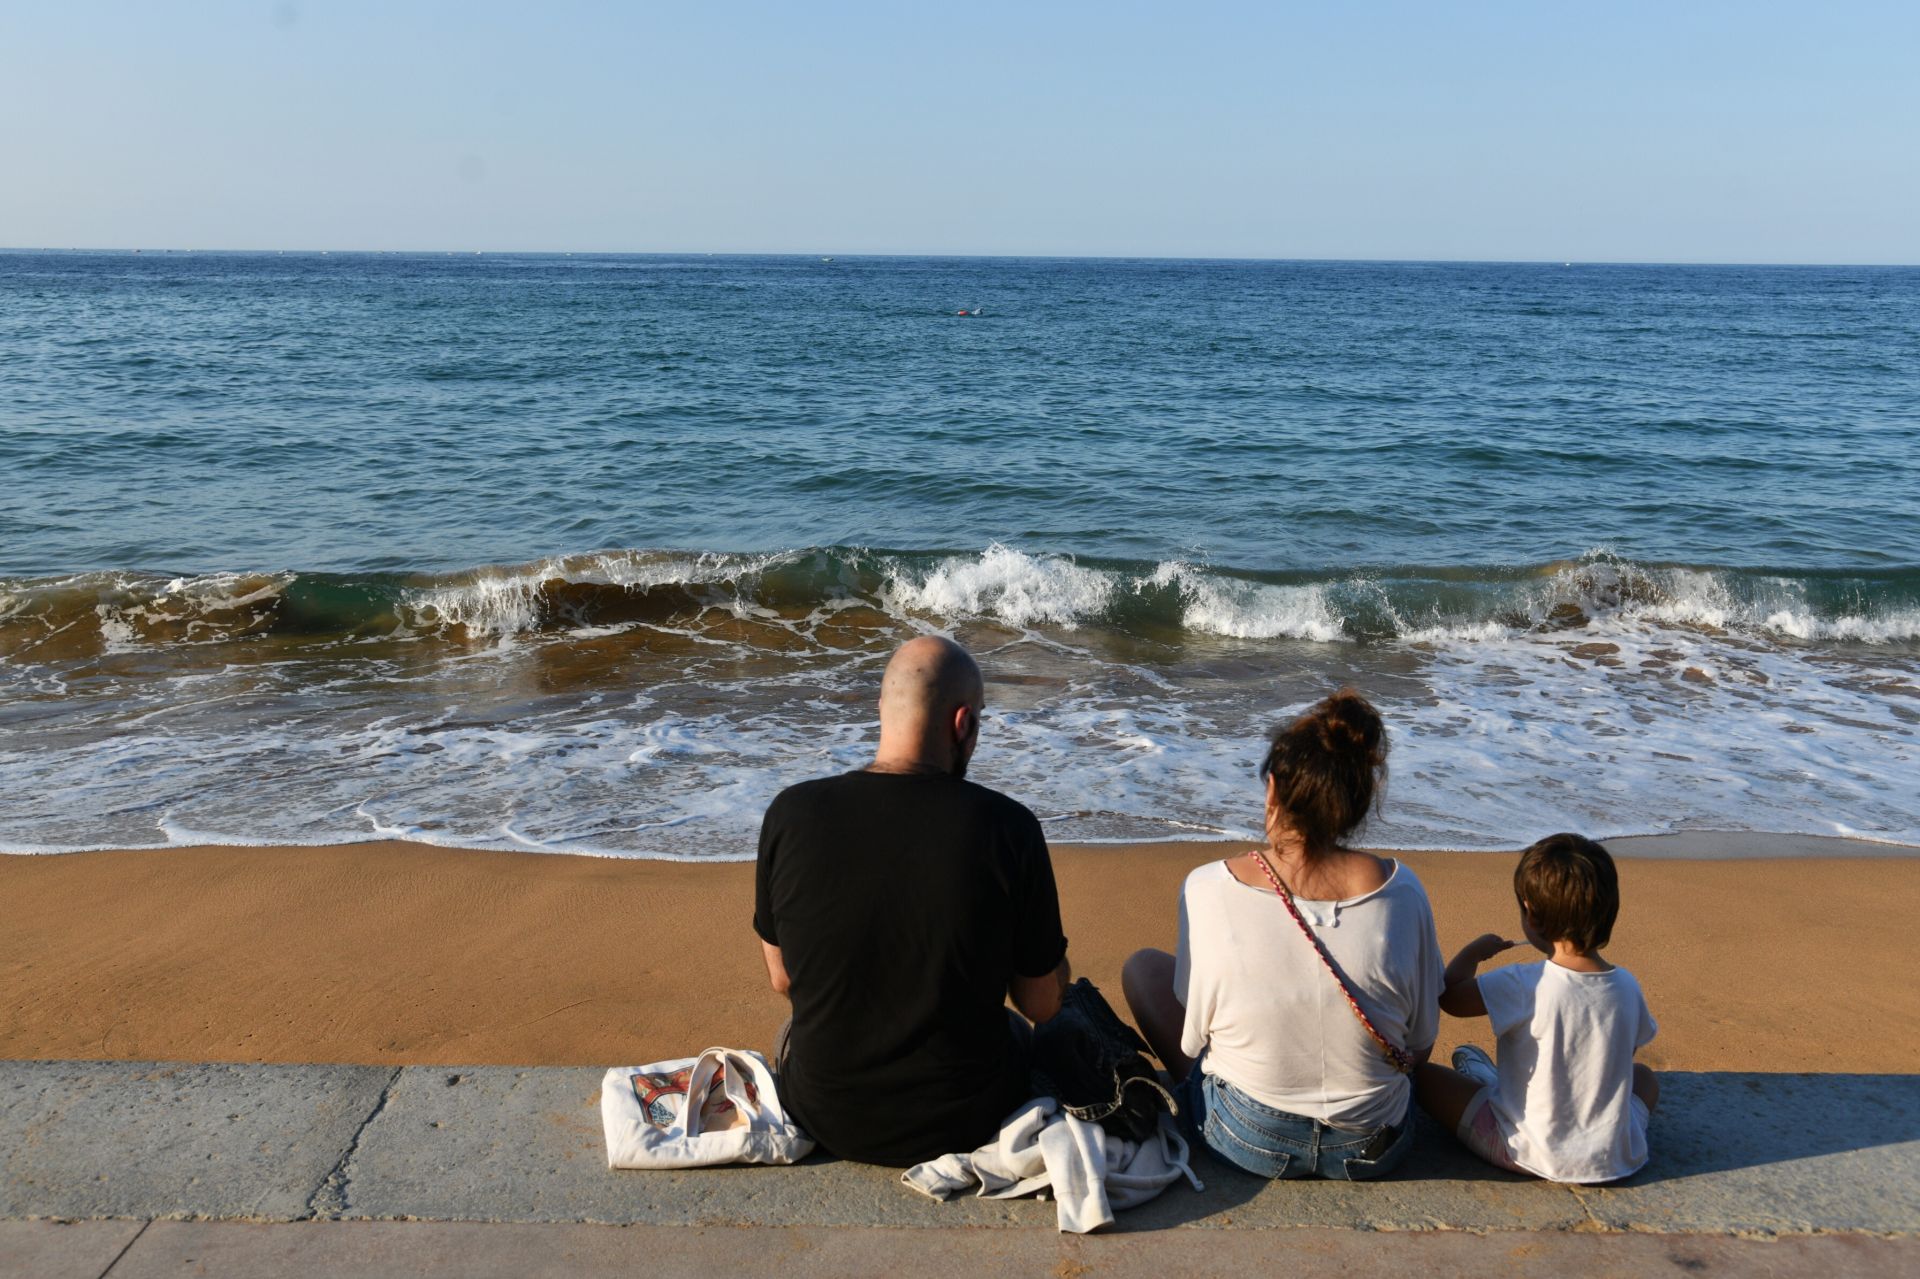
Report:
[{"label": "breaking wave together with its foamy white wash reaching the sand", "polygon": [[[457,572],[0,580],[0,851],[397,837],[747,857],[858,766],[877,664],[956,630],[981,778],[1062,839],[1260,828],[1250,743],[1354,682],[1390,847],[1548,830],[1920,841],[1920,570],[1248,572],[989,545]],[[263,805],[261,795],[273,803]]]}]

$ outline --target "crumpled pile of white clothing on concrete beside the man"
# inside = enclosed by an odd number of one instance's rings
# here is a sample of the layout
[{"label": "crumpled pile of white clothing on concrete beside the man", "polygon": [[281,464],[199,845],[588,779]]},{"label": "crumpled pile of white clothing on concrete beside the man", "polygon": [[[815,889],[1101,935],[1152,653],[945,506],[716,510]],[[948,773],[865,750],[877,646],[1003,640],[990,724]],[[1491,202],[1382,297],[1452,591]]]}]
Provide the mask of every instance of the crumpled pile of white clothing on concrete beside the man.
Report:
[{"label": "crumpled pile of white clothing on concrete beside the man", "polygon": [[1060,1229],[1085,1235],[1112,1225],[1116,1210],[1144,1204],[1183,1175],[1204,1191],[1187,1154],[1187,1139],[1167,1116],[1160,1116],[1152,1137],[1133,1143],[1075,1120],[1052,1097],[1037,1097],[1006,1118],[993,1145],[916,1164],[900,1181],[933,1198],[960,1191],[1016,1198],[1052,1189]]}]

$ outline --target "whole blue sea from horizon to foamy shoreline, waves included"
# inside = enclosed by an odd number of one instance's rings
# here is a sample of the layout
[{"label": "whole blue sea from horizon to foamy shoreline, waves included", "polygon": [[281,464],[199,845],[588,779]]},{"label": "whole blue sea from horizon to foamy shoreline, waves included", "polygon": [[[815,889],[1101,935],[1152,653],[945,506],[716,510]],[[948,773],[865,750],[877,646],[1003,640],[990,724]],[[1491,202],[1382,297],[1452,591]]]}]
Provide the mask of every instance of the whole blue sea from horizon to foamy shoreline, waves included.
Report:
[{"label": "whole blue sea from horizon to foamy shoreline, waves included", "polygon": [[1056,841],[1920,845],[1920,269],[0,253],[0,849],[745,858],[887,653]]}]

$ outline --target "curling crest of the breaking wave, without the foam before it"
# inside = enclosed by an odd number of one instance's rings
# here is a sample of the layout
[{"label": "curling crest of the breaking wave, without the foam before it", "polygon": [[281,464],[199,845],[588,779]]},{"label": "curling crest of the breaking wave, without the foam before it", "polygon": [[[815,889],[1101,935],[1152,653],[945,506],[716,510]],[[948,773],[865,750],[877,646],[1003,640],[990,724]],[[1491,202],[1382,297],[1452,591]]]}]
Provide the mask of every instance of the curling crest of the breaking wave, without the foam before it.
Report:
[{"label": "curling crest of the breaking wave, without the foam before it", "polygon": [[0,657],[252,636],[499,640],[710,611],[739,618],[868,611],[897,622],[993,620],[1313,643],[1473,643],[1597,620],[1776,643],[1920,640],[1920,570],[1772,572],[1642,565],[1605,551],[1519,568],[1250,572],[989,545],[979,553],[824,547],[743,553],[597,551],[442,574],[88,572],[0,580]]}]

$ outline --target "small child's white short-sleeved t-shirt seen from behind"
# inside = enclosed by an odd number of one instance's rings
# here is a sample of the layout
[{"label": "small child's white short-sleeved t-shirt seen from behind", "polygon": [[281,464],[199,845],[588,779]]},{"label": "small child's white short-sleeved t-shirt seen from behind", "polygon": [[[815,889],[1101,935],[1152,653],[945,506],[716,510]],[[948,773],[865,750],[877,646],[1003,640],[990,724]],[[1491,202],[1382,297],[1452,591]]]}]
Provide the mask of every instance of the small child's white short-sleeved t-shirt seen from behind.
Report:
[{"label": "small child's white short-sleeved t-shirt seen from behind", "polygon": [[1632,1104],[1634,1050],[1657,1027],[1634,974],[1511,964],[1480,974],[1480,999],[1500,1035],[1488,1106],[1513,1162],[1549,1181],[1640,1171],[1647,1123]]}]

